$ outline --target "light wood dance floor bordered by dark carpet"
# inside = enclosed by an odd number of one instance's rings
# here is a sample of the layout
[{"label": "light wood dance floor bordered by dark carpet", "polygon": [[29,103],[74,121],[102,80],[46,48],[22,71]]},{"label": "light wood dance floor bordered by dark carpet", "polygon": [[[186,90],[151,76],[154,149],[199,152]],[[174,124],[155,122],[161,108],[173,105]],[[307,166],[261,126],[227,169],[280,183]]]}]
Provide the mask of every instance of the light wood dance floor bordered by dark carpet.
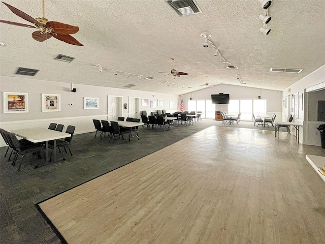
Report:
[{"label": "light wood dance floor bordered by dark carpet", "polygon": [[306,154],[325,156],[214,126],[40,207],[68,243],[324,243],[325,182]]}]

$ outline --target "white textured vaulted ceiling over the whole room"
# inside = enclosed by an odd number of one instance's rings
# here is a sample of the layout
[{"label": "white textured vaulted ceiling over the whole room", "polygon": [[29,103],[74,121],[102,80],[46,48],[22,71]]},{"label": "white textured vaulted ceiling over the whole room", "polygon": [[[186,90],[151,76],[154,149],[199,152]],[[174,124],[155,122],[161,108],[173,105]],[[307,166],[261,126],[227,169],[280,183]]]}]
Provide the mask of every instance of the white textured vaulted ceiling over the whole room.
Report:
[{"label": "white textured vaulted ceiling over the whole room", "polygon": [[[41,0],[5,2],[34,18],[42,16]],[[242,85],[237,73],[247,86],[283,90],[325,64],[325,1],[274,0],[268,36],[259,32],[263,9],[257,0],[197,3],[201,14],[180,17],[164,0],[45,0],[45,17],[79,26],[72,36],[84,46],[54,38],[40,43],[31,37],[36,30],[0,23],[0,42],[6,44],[0,47],[0,74],[26,77],[14,74],[24,67],[40,70],[31,79],[117,88],[135,84],[128,89],[180,95],[204,88],[199,85],[207,80]],[[4,4],[0,7],[0,19],[30,24]],[[224,68],[211,45],[203,47],[202,32],[212,34],[213,44],[238,70]],[[61,62],[54,59],[58,54],[76,59]],[[115,76],[104,68],[99,72],[94,64],[143,78]],[[271,67],[303,71],[276,73],[270,72]],[[176,78],[158,73],[172,68],[189,75]],[[144,79],[147,76],[154,79]]]}]

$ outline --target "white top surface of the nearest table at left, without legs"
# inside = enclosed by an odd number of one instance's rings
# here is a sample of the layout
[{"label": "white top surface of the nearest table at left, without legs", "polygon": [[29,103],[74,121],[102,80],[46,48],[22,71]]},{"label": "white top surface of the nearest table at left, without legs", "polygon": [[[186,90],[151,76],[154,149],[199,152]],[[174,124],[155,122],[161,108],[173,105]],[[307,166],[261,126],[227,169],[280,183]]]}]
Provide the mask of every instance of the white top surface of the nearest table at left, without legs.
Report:
[{"label": "white top surface of the nearest table at left, without legs", "polygon": [[69,133],[53,131],[45,128],[19,129],[10,132],[34,143],[57,140],[71,136]]}]

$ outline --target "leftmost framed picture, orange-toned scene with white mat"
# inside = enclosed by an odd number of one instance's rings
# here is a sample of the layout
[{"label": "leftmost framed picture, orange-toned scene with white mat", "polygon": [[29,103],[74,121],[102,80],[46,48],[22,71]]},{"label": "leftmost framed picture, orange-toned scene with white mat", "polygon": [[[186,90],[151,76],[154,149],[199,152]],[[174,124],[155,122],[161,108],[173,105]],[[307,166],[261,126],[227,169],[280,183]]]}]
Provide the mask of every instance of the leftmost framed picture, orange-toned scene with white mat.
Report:
[{"label": "leftmost framed picture, orange-toned scene with white mat", "polygon": [[4,113],[28,113],[28,93],[4,92]]}]

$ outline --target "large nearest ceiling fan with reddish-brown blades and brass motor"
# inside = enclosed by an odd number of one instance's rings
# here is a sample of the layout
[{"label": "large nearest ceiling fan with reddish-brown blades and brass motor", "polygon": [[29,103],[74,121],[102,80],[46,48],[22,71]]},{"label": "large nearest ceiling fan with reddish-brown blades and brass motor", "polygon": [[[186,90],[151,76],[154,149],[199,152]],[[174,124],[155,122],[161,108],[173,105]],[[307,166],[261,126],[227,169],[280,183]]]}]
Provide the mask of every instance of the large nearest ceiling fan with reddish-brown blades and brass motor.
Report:
[{"label": "large nearest ceiling fan with reddish-brown blades and brass motor", "polygon": [[1,20],[0,22],[6,23],[6,24],[13,24],[28,28],[38,28],[39,31],[33,32],[31,34],[32,38],[34,38],[38,42],[44,42],[45,40],[54,37],[62,42],[66,42],[72,45],[77,46],[83,46],[80,42],[78,42],[75,38],[70,36],[70,34],[75,34],[79,31],[78,26],[73,26],[69,24],[64,24],[57,21],[48,21],[44,17],[44,0],[43,0],[43,17],[39,18],[32,18],[28,14],[25,14],[24,12],[20,11],[19,9],[16,9],[15,7],[6,4],[2,2],[4,5],[6,5],[14,14],[18,15],[19,17],[23,18],[24,20],[27,20],[30,23],[35,24],[35,26],[28,25],[28,24],[22,24],[7,20]]}]

